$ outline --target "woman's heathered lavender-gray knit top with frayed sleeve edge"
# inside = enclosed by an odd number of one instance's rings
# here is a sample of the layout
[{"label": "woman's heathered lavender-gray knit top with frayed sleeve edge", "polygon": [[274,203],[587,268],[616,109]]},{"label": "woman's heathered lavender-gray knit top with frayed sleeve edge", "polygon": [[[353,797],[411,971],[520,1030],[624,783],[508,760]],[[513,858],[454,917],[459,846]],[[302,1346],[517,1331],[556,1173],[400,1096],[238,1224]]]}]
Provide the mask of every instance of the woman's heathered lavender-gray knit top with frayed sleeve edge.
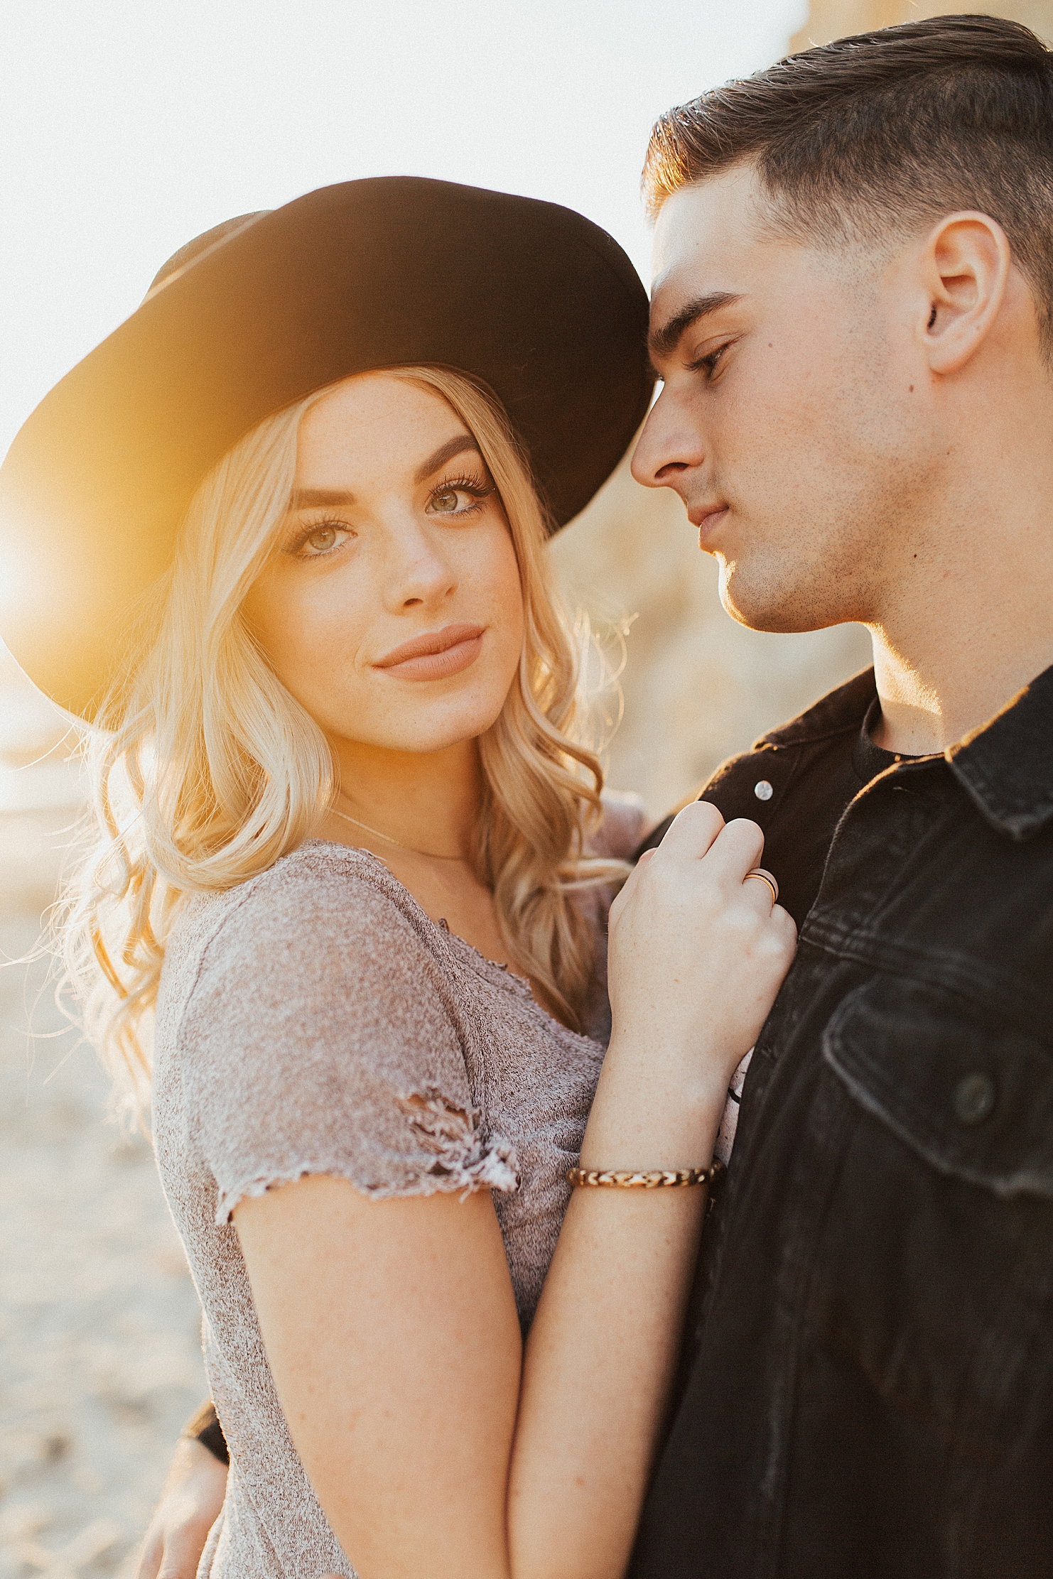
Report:
[{"label": "woman's heathered lavender-gray knit top with frayed sleeve edge", "polygon": [[[636,804],[611,807],[605,853],[628,854],[639,824]],[[153,1131],[230,1448],[200,1576],[354,1574],[278,1404],[234,1208],[306,1173],[376,1200],[489,1187],[526,1326],[609,1031],[605,908],[594,897],[600,968],[578,1036],[368,851],[311,840],[188,905],[161,973]]]}]

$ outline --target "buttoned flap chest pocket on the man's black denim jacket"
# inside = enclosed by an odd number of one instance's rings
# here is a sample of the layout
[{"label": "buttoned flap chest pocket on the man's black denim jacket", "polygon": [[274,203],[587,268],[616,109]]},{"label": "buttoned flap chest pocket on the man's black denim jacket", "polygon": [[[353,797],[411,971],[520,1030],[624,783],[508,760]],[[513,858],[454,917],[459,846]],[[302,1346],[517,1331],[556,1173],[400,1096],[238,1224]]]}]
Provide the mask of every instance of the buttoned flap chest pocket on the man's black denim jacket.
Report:
[{"label": "buttoned flap chest pocket on the man's black denim jacket", "polygon": [[[823,1058],[851,1138],[813,1318],[946,1442],[1040,1435],[1053,1386],[1053,1048],[878,977]],[[854,1118],[851,1115],[854,1113]]]}]

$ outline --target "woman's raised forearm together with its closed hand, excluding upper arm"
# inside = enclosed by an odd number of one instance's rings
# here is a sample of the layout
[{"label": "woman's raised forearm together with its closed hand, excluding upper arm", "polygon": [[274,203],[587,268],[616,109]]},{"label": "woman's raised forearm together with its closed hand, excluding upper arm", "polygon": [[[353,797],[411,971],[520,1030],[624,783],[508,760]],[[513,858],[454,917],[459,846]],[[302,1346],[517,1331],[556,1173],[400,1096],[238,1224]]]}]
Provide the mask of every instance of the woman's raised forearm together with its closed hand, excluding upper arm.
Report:
[{"label": "woman's raised forearm together with its closed hand, excluding upper arm", "polygon": [[[759,829],[688,807],[611,911],[614,1034],[586,1168],[712,1159],[733,1069],[793,957],[747,883]],[[510,1468],[513,1579],[620,1579],[695,1271],[701,1187],[578,1189],[530,1331]]]}]

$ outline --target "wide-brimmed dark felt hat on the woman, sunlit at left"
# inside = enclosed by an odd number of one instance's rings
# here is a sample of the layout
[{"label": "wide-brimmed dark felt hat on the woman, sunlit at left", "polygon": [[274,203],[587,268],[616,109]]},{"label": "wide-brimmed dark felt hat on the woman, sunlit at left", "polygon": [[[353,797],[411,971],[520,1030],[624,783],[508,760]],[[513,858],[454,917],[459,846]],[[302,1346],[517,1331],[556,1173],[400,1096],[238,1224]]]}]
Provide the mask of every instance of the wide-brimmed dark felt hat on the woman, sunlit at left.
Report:
[{"label": "wide-brimmed dark felt hat on the woman, sunlit at left", "polygon": [[440,363],[489,385],[564,526],[646,414],[646,330],[617,242],[530,197],[382,177],[218,226],[11,445],[0,636],[90,717],[205,472],[264,417],[374,368]]}]

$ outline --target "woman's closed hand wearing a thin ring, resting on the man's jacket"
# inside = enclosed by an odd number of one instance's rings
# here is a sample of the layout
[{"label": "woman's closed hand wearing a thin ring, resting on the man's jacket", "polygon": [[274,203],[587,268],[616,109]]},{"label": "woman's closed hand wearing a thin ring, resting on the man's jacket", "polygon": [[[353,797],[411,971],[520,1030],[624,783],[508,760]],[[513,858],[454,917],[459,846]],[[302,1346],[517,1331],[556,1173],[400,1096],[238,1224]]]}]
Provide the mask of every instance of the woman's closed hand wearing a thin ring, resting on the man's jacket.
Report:
[{"label": "woman's closed hand wearing a thin ring, resting on the man's jacket", "polygon": [[[796,951],[796,927],[767,883],[756,823],[685,807],[611,908],[609,992],[620,1045],[690,1060],[699,1094],[720,1099],[756,1041]],[[657,1164],[655,1164],[657,1165]]]}]

